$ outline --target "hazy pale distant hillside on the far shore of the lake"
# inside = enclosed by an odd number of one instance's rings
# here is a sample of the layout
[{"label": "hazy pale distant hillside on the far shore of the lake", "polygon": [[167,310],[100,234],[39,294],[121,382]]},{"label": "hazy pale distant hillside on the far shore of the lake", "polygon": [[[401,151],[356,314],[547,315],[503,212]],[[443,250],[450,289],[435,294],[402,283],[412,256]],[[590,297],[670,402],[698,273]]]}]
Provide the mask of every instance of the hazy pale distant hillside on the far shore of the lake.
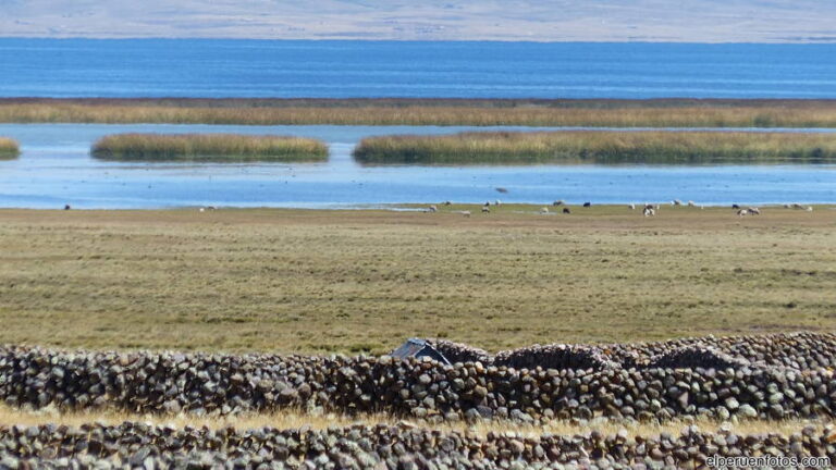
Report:
[{"label": "hazy pale distant hillside on the far shore of the lake", "polygon": [[0,36],[836,42],[836,2],[0,0]]}]

